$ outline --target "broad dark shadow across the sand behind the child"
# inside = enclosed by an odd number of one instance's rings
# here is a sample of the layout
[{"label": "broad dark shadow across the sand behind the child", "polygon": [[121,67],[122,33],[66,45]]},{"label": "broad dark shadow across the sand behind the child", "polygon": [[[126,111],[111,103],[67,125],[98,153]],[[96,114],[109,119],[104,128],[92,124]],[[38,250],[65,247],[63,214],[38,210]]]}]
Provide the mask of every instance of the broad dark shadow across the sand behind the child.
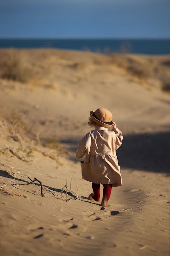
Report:
[{"label": "broad dark shadow across the sand behind the child", "polygon": [[[74,153],[79,140],[61,140],[61,143],[68,143],[69,150]],[[169,153],[170,132],[125,135],[123,144],[116,151],[121,168],[163,173],[170,171]],[[81,160],[76,157],[70,159]]]}]

